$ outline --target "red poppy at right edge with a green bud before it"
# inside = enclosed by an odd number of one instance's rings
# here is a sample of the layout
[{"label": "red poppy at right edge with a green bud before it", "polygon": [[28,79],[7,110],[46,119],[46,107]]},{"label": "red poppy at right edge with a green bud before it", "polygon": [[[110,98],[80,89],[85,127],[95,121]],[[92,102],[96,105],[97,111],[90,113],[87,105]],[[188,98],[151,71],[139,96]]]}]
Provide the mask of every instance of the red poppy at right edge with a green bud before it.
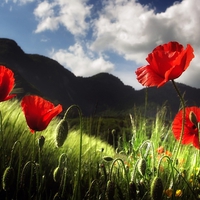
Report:
[{"label": "red poppy at right edge with a green bud before it", "polygon": [[[200,122],[200,108],[196,106],[185,108],[184,133],[181,143],[190,144],[200,149],[198,122]],[[180,110],[172,123],[172,131],[177,140],[180,140],[183,123],[183,111]]]}]

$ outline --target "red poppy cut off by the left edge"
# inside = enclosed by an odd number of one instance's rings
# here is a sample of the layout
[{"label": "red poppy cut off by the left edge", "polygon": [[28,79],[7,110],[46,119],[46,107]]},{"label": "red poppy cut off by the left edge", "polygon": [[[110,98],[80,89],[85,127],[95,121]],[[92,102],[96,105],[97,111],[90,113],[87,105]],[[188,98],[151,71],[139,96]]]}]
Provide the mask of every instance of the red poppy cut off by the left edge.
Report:
[{"label": "red poppy cut off by the left edge", "polygon": [[0,65],[0,102],[16,96],[15,94],[10,94],[14,88],[14,84],[14,73],[5,66]]}]

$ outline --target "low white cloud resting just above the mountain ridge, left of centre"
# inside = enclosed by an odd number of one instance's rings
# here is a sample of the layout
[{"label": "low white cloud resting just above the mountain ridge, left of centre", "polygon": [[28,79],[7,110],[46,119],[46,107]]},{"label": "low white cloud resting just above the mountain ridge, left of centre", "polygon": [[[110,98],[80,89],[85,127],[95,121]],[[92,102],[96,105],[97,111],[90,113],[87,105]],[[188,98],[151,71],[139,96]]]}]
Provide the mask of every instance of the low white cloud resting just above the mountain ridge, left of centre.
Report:
[{"label": "low white cloud resting just above the mountain ridge, left of centre", "polygon": [[60,49],[51,52],[51,57],[66,68],[70,69],[76,76],[92,76],[100,72],[110,72],[114,65],[106,61],[102,55],[98,58],[86,54],[81,44],[76,43],[68,50]]}]

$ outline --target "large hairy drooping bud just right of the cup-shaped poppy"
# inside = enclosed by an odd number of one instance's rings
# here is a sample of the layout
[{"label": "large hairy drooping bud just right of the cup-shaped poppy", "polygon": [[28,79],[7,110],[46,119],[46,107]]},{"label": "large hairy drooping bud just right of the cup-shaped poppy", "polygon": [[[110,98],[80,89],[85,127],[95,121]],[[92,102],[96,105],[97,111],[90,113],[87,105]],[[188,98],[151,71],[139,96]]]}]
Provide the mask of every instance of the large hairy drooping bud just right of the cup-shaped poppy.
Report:
[{"label": "large hairy drooping bud just right of the cup-shaped poppy", "polygon": [[61,147],[66,138],[67,138],[67,134],[68,134],[68,123],[66,120],[61,120],[58,124],[58,126],[56,127],[56,145],[57,147]]}]

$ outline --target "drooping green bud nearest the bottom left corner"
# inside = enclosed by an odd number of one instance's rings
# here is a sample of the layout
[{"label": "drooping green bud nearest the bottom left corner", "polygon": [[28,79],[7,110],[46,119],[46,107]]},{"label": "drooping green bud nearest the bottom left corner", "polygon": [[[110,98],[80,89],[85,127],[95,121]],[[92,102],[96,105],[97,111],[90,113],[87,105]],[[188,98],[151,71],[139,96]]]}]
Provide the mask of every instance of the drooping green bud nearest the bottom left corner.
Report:
[{"label": "drooping green bud nearest the bottom left corner", "polygon": [[5,191],[8,191],[13,184],[14,181],[14,169],[13,167],[7,167],[3,173],[2,178],[2,187]]}]

